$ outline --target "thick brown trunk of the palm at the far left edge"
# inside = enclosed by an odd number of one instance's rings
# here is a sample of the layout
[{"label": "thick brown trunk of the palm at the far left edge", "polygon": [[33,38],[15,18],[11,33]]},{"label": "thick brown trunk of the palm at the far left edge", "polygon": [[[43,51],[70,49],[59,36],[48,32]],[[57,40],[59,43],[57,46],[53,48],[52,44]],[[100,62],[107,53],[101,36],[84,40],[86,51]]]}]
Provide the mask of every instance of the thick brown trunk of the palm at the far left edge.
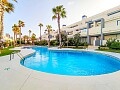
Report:
[{"label": "thick brown trunk of the palm at the far left edge", "polygon": [[3,17],[4,17],[4,11],[2,5],[0,4],[0,41],[3,38]]}]

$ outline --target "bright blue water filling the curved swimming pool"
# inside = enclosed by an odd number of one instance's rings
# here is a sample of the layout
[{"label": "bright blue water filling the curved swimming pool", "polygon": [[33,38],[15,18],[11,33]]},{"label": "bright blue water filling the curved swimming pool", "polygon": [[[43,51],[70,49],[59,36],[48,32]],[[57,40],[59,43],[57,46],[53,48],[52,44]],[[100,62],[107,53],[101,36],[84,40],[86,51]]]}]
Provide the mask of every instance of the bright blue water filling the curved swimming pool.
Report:
[{"label": "bright blue water filling the curved swimming pool", "polygon": [[37,71],[70,75],[91,76],[112,73],[120,70],[120,60],[87,51],[57,51],[46,47],[34,47],[36,53],[26,57],[21,64]]}]

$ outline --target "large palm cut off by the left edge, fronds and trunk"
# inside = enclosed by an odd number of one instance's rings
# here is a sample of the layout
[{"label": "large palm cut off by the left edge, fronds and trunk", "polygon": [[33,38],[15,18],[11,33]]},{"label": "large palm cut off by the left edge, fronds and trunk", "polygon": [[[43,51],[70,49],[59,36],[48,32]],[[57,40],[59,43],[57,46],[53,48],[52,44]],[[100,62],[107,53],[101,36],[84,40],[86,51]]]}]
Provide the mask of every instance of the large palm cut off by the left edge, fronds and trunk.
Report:
[{"label": "large palm cut off by the left edge, fronds and trunk", "polygon": [[[17,2],[16,0],[13,0]],[[3,38],[3,18],[4,12],[10,13],[14,11],[14,5],[8,0],[0,0],[0,41]]]}]

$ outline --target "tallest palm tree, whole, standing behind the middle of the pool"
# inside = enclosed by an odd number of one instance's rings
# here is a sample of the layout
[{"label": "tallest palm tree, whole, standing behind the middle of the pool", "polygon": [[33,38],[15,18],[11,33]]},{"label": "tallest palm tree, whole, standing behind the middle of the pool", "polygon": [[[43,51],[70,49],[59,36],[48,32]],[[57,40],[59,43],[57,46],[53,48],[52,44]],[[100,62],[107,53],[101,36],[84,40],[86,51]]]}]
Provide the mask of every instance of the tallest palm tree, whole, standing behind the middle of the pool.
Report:
[{"label": "tallest palm tree, whole, standing behind the middle of the pool", "polygon": [[56,6],[55,8],[52,9],[53,12],[53,17],[52,19],[57,19],[58,22],[58,33],[59,33],[59,46],[62,46],[61,42],[61,32],[60,32],[60,19],[61,18],[66,18],[66,11],[65,8],[63,8],[63,5]]}]

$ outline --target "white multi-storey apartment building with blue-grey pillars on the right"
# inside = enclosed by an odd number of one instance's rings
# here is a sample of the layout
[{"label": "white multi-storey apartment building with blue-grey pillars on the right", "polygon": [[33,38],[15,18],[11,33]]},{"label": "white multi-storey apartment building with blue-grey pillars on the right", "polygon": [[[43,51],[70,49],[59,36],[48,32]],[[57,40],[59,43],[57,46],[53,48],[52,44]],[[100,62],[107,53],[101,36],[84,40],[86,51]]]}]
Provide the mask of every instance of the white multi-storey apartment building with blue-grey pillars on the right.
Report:
[{"label": "white multi-storey apartment building with blue-grey pillars on the right", "polygon": [[105,44],[106,40],[120,39],[120,5],[94,15],[83,16],[82,20],[61,28],[68,33],[68,38],[80,33],[81,41],[98,46]]}]

